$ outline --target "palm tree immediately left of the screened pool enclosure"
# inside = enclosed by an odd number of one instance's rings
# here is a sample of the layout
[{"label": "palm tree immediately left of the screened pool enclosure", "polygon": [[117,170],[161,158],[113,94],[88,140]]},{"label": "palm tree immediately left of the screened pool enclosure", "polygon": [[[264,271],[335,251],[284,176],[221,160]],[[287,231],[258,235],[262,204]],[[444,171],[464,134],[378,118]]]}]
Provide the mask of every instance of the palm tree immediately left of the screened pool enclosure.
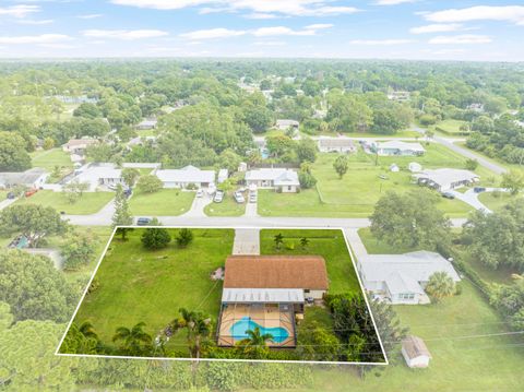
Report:
[{"label": "palm tree immediately left of the screened pool enclosure", "polygon": [[200,358],[202,340],[209,337],[212,331],[211,319],[200,311],[179,309],[181,319],[171,322],[172,330],[184,329],[188,333],[189,351],[192,358]]}]

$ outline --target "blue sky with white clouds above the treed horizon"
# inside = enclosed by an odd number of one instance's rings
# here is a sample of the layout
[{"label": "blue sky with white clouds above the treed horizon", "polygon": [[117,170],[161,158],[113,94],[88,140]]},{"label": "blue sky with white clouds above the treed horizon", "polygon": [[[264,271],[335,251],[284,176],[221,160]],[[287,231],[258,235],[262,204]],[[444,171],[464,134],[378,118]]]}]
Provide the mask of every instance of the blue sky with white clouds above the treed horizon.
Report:
[{"label": "blue sky with white clouds above the treed horizon", "polygon": [[524,61],[524,1],[0,0],[0,58]]}]

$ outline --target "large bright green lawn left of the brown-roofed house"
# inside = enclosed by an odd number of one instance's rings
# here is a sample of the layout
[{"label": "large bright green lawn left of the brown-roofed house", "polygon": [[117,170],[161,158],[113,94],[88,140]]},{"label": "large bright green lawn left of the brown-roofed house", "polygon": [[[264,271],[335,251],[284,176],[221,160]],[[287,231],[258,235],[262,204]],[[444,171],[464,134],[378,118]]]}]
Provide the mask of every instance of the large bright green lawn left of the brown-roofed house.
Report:
[{"label": "large bright green lawn left of the brown-roofed house", "polygon": [[[140,237],[145,228],[134,229],[128,241],[114,239],[95,280],[98,288],[82,302],[75,321],[90,320],[98,336],[110,342],[118,326],[140,321],[155,336],[178,317],[178,309],[201,310],[218,318],[222,282],[210,274],[223,266],[231,253],[234,230],[193,229],[194,239],[186,249],[172,241],[166,249],[145,250]],[[169,229],[171,237],[178,229]],[[184,334],[170,341],[177,347]]]}]

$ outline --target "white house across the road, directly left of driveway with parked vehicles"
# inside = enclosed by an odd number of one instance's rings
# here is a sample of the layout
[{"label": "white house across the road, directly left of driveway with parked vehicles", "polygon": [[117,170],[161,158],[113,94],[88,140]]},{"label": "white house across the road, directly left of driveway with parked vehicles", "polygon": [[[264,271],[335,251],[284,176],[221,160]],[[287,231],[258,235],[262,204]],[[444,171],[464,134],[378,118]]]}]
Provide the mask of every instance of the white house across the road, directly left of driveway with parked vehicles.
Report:
[{"label": "white house across the road, directly left of driveway with parked vehicles", "polygon": [[215,183],[214,170],[201,170],[194,166],[186,166],[181,169],[156,170],[156,177],[164,182],[164,188],[207,188]]}]

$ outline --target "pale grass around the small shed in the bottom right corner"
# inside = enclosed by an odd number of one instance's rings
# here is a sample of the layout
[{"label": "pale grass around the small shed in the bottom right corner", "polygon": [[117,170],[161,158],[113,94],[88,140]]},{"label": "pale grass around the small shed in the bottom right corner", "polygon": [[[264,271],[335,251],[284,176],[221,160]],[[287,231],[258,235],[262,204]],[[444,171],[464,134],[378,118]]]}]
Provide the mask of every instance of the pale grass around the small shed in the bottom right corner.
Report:
[{"label": "pale grass around the small shed in the bottom right corner", "polygon": [[[425,340],[428,369],[409,369],[402,358],[381,377],[357,377],[355,368],[315,370],[312,390],[322,391],[520,391],[524,384],[524,336],[508,332],[503,320],[468,283],[461,295],[438,305],[396,306],[401,322]],[[468,337],[464,337],[468,336]]]}]

